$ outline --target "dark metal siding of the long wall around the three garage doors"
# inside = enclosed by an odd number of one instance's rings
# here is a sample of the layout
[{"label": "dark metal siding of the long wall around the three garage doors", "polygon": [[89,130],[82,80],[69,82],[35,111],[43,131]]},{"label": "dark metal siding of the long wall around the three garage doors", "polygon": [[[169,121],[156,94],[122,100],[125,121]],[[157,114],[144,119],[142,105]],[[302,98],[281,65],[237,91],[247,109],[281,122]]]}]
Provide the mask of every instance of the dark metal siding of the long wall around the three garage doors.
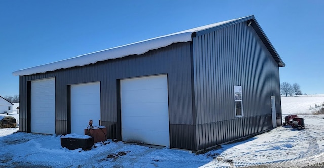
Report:
[{"label": "dark metal siding of the long wall around the three garage doors", "polygon": [[[100,81],[101,120],[102,124],[107,127],[108,138],[114,139],[120,137],[118,135],[120,132],[118,132],[117,80],[168,74],[170,137],[172,137],[170,145],[175,148],[195,149],[195,143],[192,143],[195,129],[192,127],[191,48],[191,42],[175,43],[142,55],[132,55],[81,67],[21,76],[20,130],[27,131],[27,81],[55,77],[57,134],[68,133],[67,97],[69,95],[67,94],[67,86]],[[87,123],[85,123],[86,126]],[[180,135],[179,132],[182,129],[187,131]],[[188,144],[190,145],[188,146]]]}]

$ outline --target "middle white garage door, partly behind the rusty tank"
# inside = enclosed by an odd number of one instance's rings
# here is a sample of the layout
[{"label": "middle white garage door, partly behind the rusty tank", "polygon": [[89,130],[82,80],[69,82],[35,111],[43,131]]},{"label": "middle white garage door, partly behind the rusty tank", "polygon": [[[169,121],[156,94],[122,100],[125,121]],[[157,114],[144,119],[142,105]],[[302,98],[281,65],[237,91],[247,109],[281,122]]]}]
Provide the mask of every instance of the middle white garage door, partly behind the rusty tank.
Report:
[{"label": "middle white garage door, partly behind the rusty tank", "polygon": [[71,85],[71,133],[84,135],[90,119],[99,126],[100,82]]}]

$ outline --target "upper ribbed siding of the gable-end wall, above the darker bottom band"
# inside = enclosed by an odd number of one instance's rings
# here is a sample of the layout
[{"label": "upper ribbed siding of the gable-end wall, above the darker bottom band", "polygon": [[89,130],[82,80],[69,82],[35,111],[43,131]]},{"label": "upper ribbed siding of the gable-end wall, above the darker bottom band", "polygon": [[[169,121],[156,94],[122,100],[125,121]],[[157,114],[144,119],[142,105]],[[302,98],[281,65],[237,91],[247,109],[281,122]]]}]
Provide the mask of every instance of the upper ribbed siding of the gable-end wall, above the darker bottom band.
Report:
[{"label": "upper ribbed siding of the gable-end wall, above the darker bottom band", "polygon": [[[208,42],[213,39],[216,46]],[[197,123],[235,118],[234,85],[242,85],[244,116],[271,113],[270,96],[280,98],[279,69],[252,27],[240,23],[198,36],[193,43]],[[229,108],[232,113],[221,113]]]}]

